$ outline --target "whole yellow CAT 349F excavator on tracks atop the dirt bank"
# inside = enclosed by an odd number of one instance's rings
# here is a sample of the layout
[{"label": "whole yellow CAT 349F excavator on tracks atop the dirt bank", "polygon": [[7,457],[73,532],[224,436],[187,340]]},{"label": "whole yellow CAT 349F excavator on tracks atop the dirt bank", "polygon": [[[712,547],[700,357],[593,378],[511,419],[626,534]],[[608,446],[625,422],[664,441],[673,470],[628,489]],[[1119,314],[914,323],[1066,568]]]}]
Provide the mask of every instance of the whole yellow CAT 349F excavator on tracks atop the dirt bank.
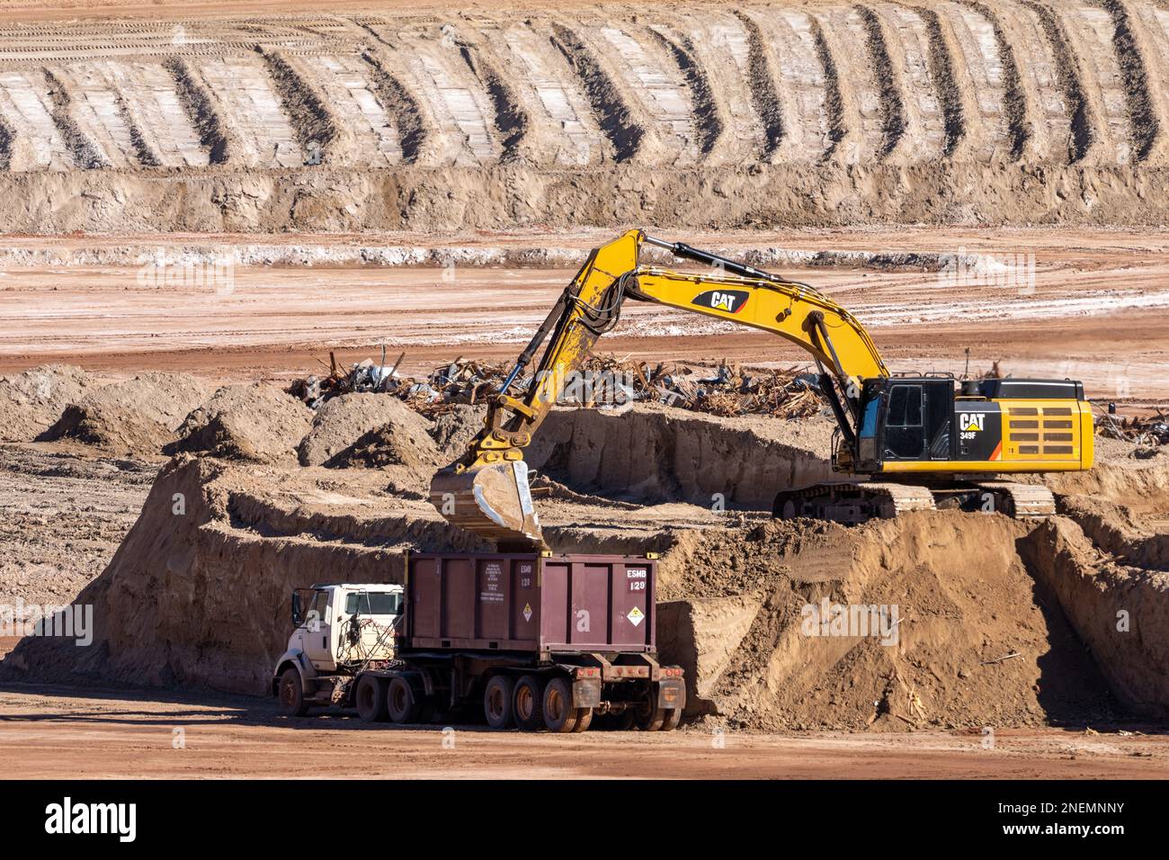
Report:
[{"label": "whole yellow CAT 349F excavator on tracks atop the dirt bank", "polygon": [[[642,264],[645,245],[708,268]],[[936,508],[1042,517],[1054,512],[1051,491],[1009,476],[1092,467],[1082,383],[891,374],[864,325],[808,284],[634,229],[588,255],[490,401],[483,429],[434,476],[430,501],[449,522],[502,551],[546,548],[524,448],[629,300],[762,329],[810,353],[836,420],[831,468],[842,477],[780,489],[776,517],[860,523]]]}]

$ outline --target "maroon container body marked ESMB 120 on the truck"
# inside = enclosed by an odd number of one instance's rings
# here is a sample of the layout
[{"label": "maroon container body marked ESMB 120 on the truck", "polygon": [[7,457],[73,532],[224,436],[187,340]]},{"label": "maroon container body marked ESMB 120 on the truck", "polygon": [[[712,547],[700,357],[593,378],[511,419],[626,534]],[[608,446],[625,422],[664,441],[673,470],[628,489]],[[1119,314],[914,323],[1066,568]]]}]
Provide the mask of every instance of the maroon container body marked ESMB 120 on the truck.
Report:
[{"label": "maroon container body marked ESMB 120 on the truck", "polygon": [[652,558],[411,553],[407,571],[411,648],[656,649]]}]

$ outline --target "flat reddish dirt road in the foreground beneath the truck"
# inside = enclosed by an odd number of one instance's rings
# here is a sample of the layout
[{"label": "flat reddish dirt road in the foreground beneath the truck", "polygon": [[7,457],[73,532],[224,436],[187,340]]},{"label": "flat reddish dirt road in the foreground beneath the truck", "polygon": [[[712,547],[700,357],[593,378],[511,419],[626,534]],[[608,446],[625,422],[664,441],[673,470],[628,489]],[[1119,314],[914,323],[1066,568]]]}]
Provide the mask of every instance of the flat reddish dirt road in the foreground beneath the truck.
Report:
[{"label": "flat reddish dirt road in the foreground beneath the truck", "polygon": [[1169,777],[1169,738],[1115,731],[1004,730],[991,748],[946,731],[562,737],[286,721],[264,700],[19,686],[0,690],[0,755],[21,778]]}]

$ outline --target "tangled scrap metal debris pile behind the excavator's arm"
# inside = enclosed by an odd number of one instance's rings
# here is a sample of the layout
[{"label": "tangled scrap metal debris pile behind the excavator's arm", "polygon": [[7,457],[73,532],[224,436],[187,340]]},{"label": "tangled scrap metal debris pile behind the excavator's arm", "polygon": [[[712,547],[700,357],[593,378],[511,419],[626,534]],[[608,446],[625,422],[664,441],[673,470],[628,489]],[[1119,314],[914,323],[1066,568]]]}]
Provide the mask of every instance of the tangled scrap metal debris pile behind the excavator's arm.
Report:
[{"label": "tangled scrap metal debris pile behind the excavator's arm", "polygon": [[[499,391],[509,365],[457,358],[436,367],[426,378],[397,372],[402,356],[393,365],[366,359],[348,371],[336,359],[326,377],[310,376],[295,381],[289,392],[312,408],[351,392],[386,392],[415,411],[436,417],[455,404],[483,404]],[[524,380],[518,388],[524,390]],[[635,401],[662,403],[713,415],[766,414],[807,418],[822,408],[817,380],[796,367],[773,370],[720,363],[715,367],[678,362],[634,362],[613,356],[593,356],[583,369],[566,379],[560,403],[613,408]]]}]

